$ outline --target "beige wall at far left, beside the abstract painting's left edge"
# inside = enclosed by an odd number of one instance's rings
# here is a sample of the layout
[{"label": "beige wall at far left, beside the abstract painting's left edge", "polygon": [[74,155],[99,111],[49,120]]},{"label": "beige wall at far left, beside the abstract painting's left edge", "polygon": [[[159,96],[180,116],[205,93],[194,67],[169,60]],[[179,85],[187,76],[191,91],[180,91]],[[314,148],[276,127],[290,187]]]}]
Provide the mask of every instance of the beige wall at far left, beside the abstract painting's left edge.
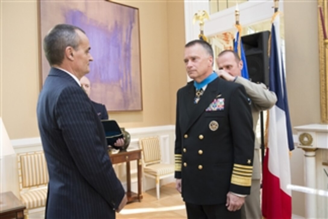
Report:
[{"label": "beige wall at far left, beside the abstract painting's left edge", "polygon": [[2,117],[10,139],[38,136],[39,93],[37,6],[1,2]]}]

